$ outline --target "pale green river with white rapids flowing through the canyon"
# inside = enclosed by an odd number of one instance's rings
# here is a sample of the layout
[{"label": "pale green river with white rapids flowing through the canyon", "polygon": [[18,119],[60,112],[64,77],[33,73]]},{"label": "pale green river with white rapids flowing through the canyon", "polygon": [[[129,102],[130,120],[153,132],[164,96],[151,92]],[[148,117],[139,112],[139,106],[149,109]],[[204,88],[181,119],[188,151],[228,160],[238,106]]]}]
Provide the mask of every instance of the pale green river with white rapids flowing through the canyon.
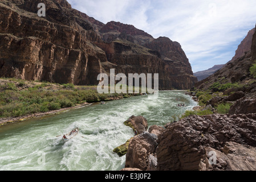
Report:
[{"label": "pale green river with white rapids flowing through the canyon", "polygon": [[[157,100],[148,99],[150,96],[124,98],[0,127],[0,170],[116,171],[124,168],[125,156],[120,158],[112,152],[133,137],[132,129],[123,122],[132,115],[143,115],[149,127],[164,126],[197,105],[184,93],[159,92]],[[185,103],[186,107],[177,107],[178,103]],[[56,137],[75,127],[80,130],[75,138],[63,142],[62,137]]]}]

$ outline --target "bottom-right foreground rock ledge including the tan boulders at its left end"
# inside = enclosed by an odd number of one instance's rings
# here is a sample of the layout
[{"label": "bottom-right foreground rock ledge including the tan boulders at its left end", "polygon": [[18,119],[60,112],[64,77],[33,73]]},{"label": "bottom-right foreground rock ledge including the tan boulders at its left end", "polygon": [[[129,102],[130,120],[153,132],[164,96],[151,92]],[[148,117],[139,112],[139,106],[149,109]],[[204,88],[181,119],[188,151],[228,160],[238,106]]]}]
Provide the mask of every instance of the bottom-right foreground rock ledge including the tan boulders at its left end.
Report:
[{"label": "bottom-right foreground rock ledge including the tan boulders at its left end", "polygon": [[192,115],[165,128],[152,126],[130,140],[125,168],[255,170],[255,132],[256,114]]}]

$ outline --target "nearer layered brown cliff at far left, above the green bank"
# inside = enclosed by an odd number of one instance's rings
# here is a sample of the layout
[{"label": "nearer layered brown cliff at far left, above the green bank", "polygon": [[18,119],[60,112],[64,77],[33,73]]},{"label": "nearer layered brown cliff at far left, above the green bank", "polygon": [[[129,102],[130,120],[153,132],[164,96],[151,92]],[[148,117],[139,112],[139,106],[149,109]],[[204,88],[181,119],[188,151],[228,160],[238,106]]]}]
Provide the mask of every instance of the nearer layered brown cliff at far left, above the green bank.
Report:
[{"label": "nearer layered brown cliff at far left, above the green bank", "polygon": [[[107,58],[90,43],[100,39],[91,24],[72,14],[66,1],[22,2],[0,3],[0,76],[97,84],[95,76],[103,72],[101,62]],[[46,4],[46,19],[24,11],[37,12],[40,2]]]}]

